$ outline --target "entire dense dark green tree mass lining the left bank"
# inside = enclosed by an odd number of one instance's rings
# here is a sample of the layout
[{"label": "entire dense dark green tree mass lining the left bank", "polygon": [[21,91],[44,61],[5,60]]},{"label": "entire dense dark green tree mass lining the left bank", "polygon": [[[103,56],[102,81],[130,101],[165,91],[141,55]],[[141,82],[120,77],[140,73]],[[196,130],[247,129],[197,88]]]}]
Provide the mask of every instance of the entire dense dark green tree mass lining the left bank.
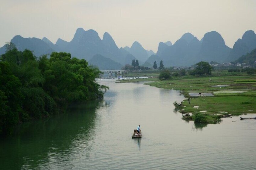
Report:
[{"label": "entire dense dark green tree mass lining the left bank", "polygon": [[103,97],[102,90],[108,87],[95,82],[99,73],[70,53],[37,58],[29,50],[7,48],[0,57],[0,134],[11,133],[19,122],[57,113],[72,102]]}]

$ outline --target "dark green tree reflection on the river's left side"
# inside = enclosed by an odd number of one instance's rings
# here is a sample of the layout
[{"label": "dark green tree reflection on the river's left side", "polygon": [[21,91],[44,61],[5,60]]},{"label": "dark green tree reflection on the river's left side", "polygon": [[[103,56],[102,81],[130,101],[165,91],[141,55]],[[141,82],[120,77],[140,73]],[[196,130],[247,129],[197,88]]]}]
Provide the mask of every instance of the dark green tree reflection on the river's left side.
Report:
[{"label": "dark green tree reflection on the river's left side", "polygon": [[0,141],[1,168],[37,169],[40,164],[69,160],[80,145],[89,151],[99,104],[102,102],[73,104],[66,113],[19,126],[12,136]]}]

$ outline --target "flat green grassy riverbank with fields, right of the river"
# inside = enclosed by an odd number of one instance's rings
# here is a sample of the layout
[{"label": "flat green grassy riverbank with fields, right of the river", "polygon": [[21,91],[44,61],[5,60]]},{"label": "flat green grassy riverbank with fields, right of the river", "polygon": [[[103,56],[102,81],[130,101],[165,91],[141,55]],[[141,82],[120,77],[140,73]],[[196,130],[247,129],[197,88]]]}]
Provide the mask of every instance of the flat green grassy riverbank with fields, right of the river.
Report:
[{"label": "flat green grassy riverbank with fields, right of the river", "polygon": [[[161,72],[158,71],[158,74]],[[176,75],[176,73],[177,71],[172,71],[171,74]],[[145,80],[141,79],[141,81]],[[209,75],[191,76],[186,73],[184,76],[171,76],[165,80],[148,79],[147,81],[154,81],[146,83],[148,85],[179,90],[185,97],[190,97],[190,104],[188,100],[176,104],[177,110],[187,115],[183,116],[187,121],[193,120],[199,124],[219,123],[221,115],[238,116],[256,113],[255,73],[220,70]],[[196,96],[190,96],[191,93],[195,93]],[[212,97],[199,96],[197,95],[199,93],[209,93]]]}]

